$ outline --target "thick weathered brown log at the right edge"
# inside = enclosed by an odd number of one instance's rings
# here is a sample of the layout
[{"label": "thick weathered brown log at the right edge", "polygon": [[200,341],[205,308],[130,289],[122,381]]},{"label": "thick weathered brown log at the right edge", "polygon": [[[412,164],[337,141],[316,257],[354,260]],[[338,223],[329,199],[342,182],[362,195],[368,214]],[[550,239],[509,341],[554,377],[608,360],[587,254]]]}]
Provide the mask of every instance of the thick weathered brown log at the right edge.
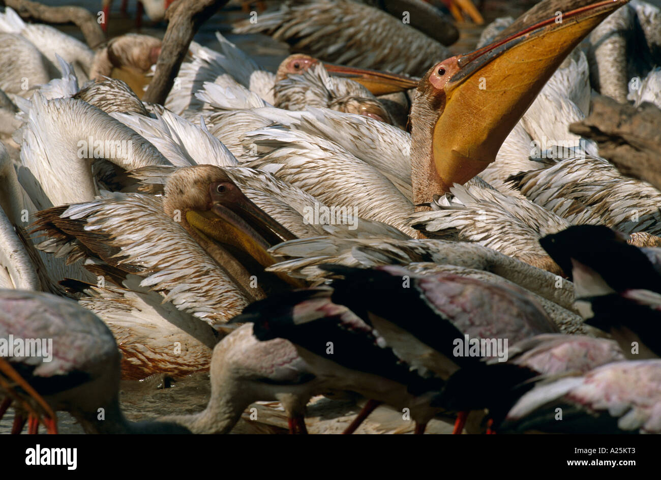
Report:
[{"label": "thick weathered brown log at the right edge", "polygon": [[609,97],[595,97],[592,114],[569,126],[570,132],[596,141],[599,154],[627,177],[661,190],[661,110],[638,108]]}]

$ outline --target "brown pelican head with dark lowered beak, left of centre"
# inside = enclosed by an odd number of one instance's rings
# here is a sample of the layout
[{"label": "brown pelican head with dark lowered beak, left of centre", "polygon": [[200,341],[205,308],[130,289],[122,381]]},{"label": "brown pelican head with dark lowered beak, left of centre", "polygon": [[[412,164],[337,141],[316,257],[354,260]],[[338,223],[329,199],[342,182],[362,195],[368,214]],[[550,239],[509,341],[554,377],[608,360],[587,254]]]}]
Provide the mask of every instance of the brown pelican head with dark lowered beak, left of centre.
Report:
[{"label": "brown pelican head with dark lowered beak, left of centre", "polygon": [[[296,238],[251,202],[215,165],[176,170],[165,184],[163,208],[251,297],[261,296],[254,295],[258,292],[254,286],[248,287],[254,274],[260,286],[272,284],[272,274],[264,273],[263,268],[276,260],[267,250]],[[262,281],[265,278],[268,281]]]}]

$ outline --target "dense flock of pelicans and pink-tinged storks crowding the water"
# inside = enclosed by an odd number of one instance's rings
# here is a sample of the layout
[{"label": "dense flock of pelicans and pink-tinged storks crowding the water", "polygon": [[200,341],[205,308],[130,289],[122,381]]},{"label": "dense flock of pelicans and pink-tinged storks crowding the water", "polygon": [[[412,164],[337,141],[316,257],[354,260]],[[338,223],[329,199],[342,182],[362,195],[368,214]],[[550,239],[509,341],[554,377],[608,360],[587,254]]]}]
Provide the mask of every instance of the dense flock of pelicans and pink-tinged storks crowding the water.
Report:
[{"label": "dense flock of pelicans and pink-tinged storks crowding the water", "polygon": [[[661,192],[568,131],[592,95],[661,108],[661,11],[544,0],[452,56],[451,17],[401,4],[410,24],[388,1],[278,4],[235,25],[290,44],[276,72],[218,33],[163,105],[141,101],[157,38],[91,50],[0,13],[13,433],[58,411],[227,433],[257,401],[306,433],[320,395],[358,399],[345,433],[377,408],[418,434],[661,433]],[[122,413],[120,380],[196,372],[204,411]]]}]

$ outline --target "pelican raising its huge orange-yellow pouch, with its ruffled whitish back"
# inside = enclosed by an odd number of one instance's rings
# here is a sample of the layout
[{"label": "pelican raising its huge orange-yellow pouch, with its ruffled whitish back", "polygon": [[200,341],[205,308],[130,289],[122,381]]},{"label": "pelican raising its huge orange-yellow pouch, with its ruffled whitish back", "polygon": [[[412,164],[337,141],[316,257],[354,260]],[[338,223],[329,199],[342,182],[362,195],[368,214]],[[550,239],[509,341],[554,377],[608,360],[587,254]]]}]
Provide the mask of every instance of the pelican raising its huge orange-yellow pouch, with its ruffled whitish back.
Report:
[{"label": "pelican raising its huge orange-yellow pouch, with its ruffled whitish back", "polygon": [[[369,150],[368,145],[354,146],[347,152],[332,145],[334,140],[318,138],[313,140],[311,136],[299,130],[263,129],[247,136],[246,149],[253,143],[258,151],[262,145],[264,146],[262,149],[264,153],[260,152],[260,158],[251,161],[249,165],[274,171],[278,177],[308,190],[326,202],[358,206],[362,216],[371,215],[372,220],[387,221],[408,235],[416,235],[410,227],[407,227],[407,219],[409,212],[413,210],[412,207],[417,205],[418,208],[423,208],[420,205],[430,202],[434,194],[447,192],[453,183],[467,182],[483,171],[495,159],[498,147],[518,122],[525,107],[539,93],[543,83],[551,77],[553,71],[589,30],[621,5],[623,3],[599,4],[567,12],[565,18],[568,15],[570,18],[580,19],[576,24],[572,23],[573,26],[566,22],[558,26],[559,24],[545,17],[544,11],[538,11],[536,20],[539,23],[525,30],[524,34],[510,34],[471,54],[453,57],[430,69],[418,85],[410,115],[412,199],[402,198],[393,190],[385,190],[386,186],[392,183],[390,179],[385,182],[379,177],[370,175],[373,178],[371,181],[373,187],[365,190],[352,185],[356,178],[367,178],[365,174],[346,177],[336,175],[335,172],[340,169],[336,165],[342,165],[341,171],[349,173],[360,171],[357,170],[359,168],[365,170],[360,161],[369,165],[377,163],[378,159],[373,161],[368,159],[369,153],[363,153]],[[578,24],[581,26],[576,26]],[[508,90],[506,99],[502,99],[502,85],[508,82],[505,75],[509,75],[511,71],[499,69],[498,62],[508,61],[505,59],[510,58],[523,58],[519,56],[525,56],[527,48],[535,48],[537,45],[533,38],[539,42],[546,42],[550,38],[561,38],[561,36],[567,36],[567,41],[563,40],[563,48],[554,48],[552,59],[538,60],[539,69],[535,69],[534,78],[527,73],[526,78],[529,81],[527,87]],[[504,73],[505,71],[507,73]],[[484,91],[479,89],[479,85],[471,81],[471,78],[487,79],[486,89]],[[499,85],[499,88],[490,90],[488,85]],[[498,119],[494,119],[491,124],[487,122],[486,126],[483,121],[463,120],[467,115],[479,116],[482,120],[488,119],[492,114],[487,106],[488,99],[492,98],[495,102],[496,97],[499,105],[502,105],[503,101],[511,105],[511,108],[505,108],[508,114],[504,118],[498,116]],[[498,110],[500,111],[500,107]],[[337,137],[335,132],[333,139]],[[346,136],[339,137],[338,141],[342,142],[342,137]],[[469,138],[475,138],[475,141],[470,142],[470,155],[467,157],[462,152],[469,148]],[[319,145],[319,153],[311,150],[311,145]],[[358,149],[360,151],[356,151]],[[388,150],[387,147],[382,149]],[[391,161],[402,162],[401,171],[404,171],[404,175],[406,175],[407,150],[406,143],[397,145],[394,142],[393,148],[389,149]],[[319,156],[315,157],[315,155]],[[315,164],[315,171],[323,171],[325,168],[333,171],[333,175],[328,175],[328,184],[323,186],[318,183],[311,184],[307,175],[301,171],[301,165],[297,163],[301,157],[318,161],[319,164]],[[307,165],[310,165],[309,161]],[[371,172],[371,169],[369,171]],[[333,184],[333,181],[337,184]],[[406,184],[407,179],[401,178],[400,182]],[[347,185],[352,188],[347,189]],[[384,197],[385,194],[387,197],[382,200],[375,198],[377,195]],[[386,216],[389,220],[385,219]]]}]

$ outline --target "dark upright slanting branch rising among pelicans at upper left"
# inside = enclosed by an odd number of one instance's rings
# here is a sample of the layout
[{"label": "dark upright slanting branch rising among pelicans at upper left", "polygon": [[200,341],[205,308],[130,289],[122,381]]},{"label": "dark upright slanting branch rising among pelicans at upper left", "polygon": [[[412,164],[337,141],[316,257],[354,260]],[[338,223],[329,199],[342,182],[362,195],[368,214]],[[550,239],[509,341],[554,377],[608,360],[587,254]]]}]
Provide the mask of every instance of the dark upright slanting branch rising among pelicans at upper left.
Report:
[{"label": "dark upright slanting branch rising among pelicans at upper left", "polygon": [[175,77],[179,73],[188,46],[200,25],[214,15],[229,0],[177,0],[165,12],[169,20],[156,72],[145,96],[144,102],[165,103]]}]

